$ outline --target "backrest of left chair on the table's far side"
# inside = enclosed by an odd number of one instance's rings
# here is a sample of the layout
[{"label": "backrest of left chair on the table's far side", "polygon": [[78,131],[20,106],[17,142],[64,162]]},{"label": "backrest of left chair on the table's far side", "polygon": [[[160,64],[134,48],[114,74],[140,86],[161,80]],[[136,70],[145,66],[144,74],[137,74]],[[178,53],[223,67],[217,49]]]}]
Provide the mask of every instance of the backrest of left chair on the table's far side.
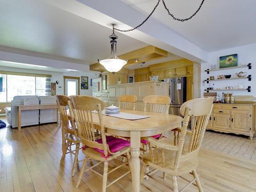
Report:
[{"label": "backrest of left chair on the table's far side", "polygon": [[119,109],[134,110],[136,109],[136,95],[122,95],[118,97]]}]

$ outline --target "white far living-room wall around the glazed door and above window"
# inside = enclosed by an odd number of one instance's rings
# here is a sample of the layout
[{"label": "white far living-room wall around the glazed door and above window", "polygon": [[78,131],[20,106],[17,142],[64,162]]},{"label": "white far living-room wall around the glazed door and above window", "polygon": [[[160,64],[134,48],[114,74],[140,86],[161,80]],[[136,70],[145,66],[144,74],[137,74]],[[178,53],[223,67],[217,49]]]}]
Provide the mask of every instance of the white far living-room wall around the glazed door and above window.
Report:
[{"label": "white far living-room wall around the glazed door and above window", "polygon": [[[11,71],[11,72],[22,72],[22,73],[36,73],[36,74],[48,74],[52,75],[51,82],[55,82],[56,80],[59,81],[59,84],[56,84],[56,94],[63,95],[63,76],[74,76],[80,77],[81,76],[88,76],[88,90],[81,90],[80,95],[91,95],[92,96],[92,86],[91,86],[91,79],[95,79],[99,77],[98,72],[82,72],[82,71],[69,71],[69,72],[51,72],[51,71],[39,71],[39,70],[28,70],[28,69],[19,69],[19,68],[8,68],[8,67],[1,67],[1,71]],[[81,83],[81,79],[80,79]]]}]

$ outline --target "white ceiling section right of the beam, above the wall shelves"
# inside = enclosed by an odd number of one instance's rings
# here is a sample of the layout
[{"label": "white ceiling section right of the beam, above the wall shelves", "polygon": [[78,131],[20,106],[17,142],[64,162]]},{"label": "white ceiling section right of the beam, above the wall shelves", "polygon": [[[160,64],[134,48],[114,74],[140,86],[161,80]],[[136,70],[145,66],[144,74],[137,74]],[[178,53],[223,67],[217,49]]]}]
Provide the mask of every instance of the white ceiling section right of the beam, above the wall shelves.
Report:
[{"label": "white ceiling section right of the beam, above the wall shelves", "polygon": [[[157,0],[121,1],[145,15],[157,3]],[[201,1],[165,0],[165,3],[176,17],[184,18],[192,15]],[[255,8],[255,0],[207,0],[195,17],[178,22],[168,15],[160,1],[152,16],[201,49],[212,52],[256,42]]]}]

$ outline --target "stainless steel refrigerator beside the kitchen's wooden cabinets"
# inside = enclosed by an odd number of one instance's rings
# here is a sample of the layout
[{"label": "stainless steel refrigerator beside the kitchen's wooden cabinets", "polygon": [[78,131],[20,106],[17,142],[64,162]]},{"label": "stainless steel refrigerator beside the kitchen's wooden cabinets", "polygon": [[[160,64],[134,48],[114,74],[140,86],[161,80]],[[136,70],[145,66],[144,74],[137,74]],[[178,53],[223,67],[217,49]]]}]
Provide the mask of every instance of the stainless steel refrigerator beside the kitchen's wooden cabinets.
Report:
[{"label": "stainless steel refrigerator beside the kitchen's wooden cabinets", "polygon": [[169,78],[164,81],[169,81],[169,114],[180,115],[180,106],[186,102],[186,77]]}]

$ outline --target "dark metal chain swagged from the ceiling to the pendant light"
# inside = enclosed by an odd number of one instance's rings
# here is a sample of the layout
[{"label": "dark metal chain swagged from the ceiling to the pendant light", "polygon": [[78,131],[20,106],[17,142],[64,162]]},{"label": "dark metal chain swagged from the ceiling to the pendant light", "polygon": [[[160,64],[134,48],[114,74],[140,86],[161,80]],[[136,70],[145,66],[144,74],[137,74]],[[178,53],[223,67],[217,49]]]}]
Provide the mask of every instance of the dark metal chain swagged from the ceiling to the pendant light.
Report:
[{"label": "dark metal chain swagged from the ceiling to the pendant light", "polygon": [[[150,15],[148,15],[148,16],[146,17],[146,19],[143,20],[143,22],[142,22],[140,25],[138,25],[138,26],[136,26],[136,27],[134,27],[134,28],[132,28],[132,29],[127,29],[127,30],[117,29],[117,28],[115,28],[114,25],[113,25],[113,33],[114,33],[114,30],[119,31],[119,32],[129,32],[129,31],[133,31],[133,30],[139,28],[140,26],[142,26],[142,25],[147,21],[147,19],[150,18],[151,15],[155,12],[155,10],[156,10],[156,8],[158,7],[160,1],[161,1],[161,0],[158,0],[157,5],[154,7],[154,9],[153,9],[152,12],[150,13]],[[191,19],[192,17],[194,17],[194,16],[198,13],[198,11],[201,9],[201,7],[202,7],[202,5],[203,5],[203,3],[204,3],[204,0],[202,0],[201,4],[199,5],[199,8],[197,9],[197,11],[196,11],[193,15],[191,15],[191,16],[188,17],[188,18],[184,18],[184,19],[176,18],[172,13],[169,12],[169,9],[166,7],[164,0],[162,0],[162,2],[163,2],[164,8],[165,8],[166,11],[168,12],[168,14],[173,17],[174,20],[178,20],[179,22],[184,22],[184,21],[186,21],[186,20]]]}]

